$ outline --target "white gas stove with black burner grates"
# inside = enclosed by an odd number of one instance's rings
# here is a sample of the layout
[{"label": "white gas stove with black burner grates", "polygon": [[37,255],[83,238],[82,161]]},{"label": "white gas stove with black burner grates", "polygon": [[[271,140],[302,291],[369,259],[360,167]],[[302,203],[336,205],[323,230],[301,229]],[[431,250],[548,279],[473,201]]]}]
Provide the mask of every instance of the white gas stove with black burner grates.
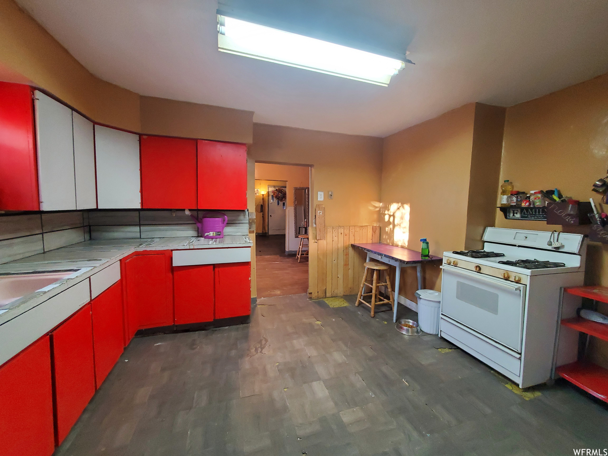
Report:
[{"label": "white gas stove with black burner grates", "polygon": [[[483,250],[444,252],[440,336],[519,384],[548,381],[576,361],[577,337],[562,331],[580,299],[562,288],[583,284],[587,240],[561,233],[488,227]],[[576,340],[575,340],[576,339]]]}]

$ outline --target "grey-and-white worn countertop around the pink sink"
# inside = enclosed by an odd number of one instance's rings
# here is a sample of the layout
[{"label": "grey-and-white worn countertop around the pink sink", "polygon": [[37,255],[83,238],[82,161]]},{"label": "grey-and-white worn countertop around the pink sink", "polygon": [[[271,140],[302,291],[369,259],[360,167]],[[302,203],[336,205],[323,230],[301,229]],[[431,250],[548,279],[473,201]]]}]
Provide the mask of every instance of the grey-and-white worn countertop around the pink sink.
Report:
[{"label": "grey-and-white worn countertop around the pink sink", "polygon": [[222,247],[252,247],[247,235],[227,235],[223,239],[196,237],[110,239],[85,241],[44,254],[0,264],[0,275],[30,272],[74,271],[74,274],[39,291],[25,295],[0,307],[0,325],[40,305],[54,295],[82,282],[95,272],[141,250],[217,249]]}]

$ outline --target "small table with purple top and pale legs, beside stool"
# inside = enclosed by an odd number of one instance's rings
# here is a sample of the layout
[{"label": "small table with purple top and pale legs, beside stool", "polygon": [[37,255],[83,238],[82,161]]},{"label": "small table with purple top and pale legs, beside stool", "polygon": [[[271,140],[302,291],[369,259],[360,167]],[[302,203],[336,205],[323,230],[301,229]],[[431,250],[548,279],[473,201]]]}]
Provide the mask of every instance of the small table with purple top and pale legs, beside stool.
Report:
[{"label": "small table with purple top and pale legs, beside stool", "polygon": [[422,257],[420,252],[416,252],[415,250],[405,249],[404,247],[392,246],[390,244],[383,244],[379,242],[351,244],[351,246],[359,247],[359,249],[365,250],[365,252],[367,252],[366,261],[370,261],[370,258],[373,258],[374,260],[382,261],[382,263],[395,266],[397,269],[395,273],[395,305],[393,305],[393,323],[397,321],[397,304],[399,303],[399,276],[401,275],[401,268],[416,266],[416,272],[418,274],[418,289],[421,290],[423,289],[422,263],[426,261],[441,260],[441,257],[435,257],[435,255]]}]

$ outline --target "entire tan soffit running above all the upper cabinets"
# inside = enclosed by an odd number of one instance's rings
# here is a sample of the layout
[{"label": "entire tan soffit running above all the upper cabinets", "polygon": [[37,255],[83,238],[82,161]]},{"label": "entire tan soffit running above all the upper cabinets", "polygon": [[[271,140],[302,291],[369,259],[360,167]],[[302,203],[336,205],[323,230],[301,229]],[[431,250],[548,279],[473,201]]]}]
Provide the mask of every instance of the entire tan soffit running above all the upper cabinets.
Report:
[{"label": "entire tan soffit running above all the upper cabinets", "polygon": [[253,140],[252,111],[140,97],[95,77],[13,0],[0,0],[0,80],[38,86],[95,122],[125,130]]}]

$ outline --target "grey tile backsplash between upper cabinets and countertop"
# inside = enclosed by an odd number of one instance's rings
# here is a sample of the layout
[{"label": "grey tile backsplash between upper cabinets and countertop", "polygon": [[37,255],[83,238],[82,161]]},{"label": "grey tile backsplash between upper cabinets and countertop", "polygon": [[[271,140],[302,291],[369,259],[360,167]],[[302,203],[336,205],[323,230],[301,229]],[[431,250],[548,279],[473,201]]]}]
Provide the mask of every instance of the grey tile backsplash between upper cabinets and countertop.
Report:
[{"label": "grey tile backsplash between upper cabinets and countertop", "polygon": [[[202,216],[206,211],[192,211]],[[247,235],[246,210],[223,210],[225,235]],[[0,264],[79,242],[198,236],[184,210],[91,210],[0,216]]]}]

